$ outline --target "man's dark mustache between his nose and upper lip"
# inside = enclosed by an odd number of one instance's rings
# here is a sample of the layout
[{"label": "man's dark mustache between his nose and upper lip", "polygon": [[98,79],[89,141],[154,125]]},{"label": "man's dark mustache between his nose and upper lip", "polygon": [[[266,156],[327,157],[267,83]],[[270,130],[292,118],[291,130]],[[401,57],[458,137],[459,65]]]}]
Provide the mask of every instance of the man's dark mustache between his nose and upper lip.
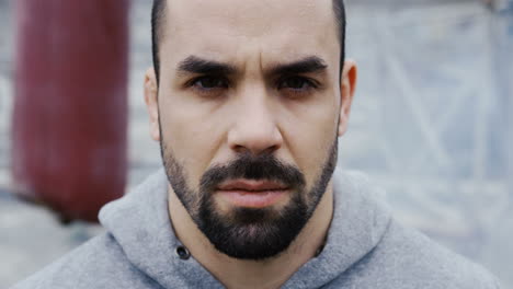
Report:
[{"label": "man's dark mustache between his nose and upper lip", "polygon": [[228,180],[246,178],[253,181],[275,181],[289,187],[305,186],[305,176],[294,165],[286,164],[272,154],[241,154],[227,164],[208,169],[200,181],[204,192],[213,192]]}]

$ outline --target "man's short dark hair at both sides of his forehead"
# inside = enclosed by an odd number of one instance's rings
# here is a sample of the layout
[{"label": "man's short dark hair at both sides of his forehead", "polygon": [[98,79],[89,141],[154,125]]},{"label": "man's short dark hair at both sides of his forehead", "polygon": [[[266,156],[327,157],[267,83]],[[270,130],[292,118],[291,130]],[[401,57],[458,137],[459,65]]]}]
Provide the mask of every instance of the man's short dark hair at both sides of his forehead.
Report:
[{"label": "man's short dark hair at both sides of his forehead", "polygon": [[[160,80],[160,58],[159,58],[159,42],[163,35],[161,27],[166,18],[166,1],[167,0],[153,0],[153,8],[151,9],[151,42],[153,53],[153,68],[157,76],[157,84]],[[342,69],[345,59],[345,7],[343,0],[332,0],[333,12],[339,28],[339,41],[340,41],[340,71],[342,77]]]}]

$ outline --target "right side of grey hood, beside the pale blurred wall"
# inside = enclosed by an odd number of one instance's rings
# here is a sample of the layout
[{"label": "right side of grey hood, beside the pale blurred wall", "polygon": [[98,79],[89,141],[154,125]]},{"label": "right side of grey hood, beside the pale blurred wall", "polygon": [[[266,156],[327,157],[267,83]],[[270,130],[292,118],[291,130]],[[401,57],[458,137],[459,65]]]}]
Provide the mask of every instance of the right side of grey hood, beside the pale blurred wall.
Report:
[{"label": "right side of grey hood, beside the pale blurred wall", "polygon": [[390,222],[384,192],[357,172],[333,174],[334,210],[322,253],[282,288],[320,288],[362,259],[383,239]]}]

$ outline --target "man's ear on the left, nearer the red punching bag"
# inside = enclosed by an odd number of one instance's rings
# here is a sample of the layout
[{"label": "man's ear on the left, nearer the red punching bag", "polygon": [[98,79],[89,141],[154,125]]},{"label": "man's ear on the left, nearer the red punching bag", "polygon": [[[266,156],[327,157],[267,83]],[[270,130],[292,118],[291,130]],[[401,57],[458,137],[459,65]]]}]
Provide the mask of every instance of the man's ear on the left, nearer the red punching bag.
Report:
[{"label": "man's ear on the left, nearer the red punching bag", "polygon": [[145,74],[145,103],[150,117],[150,136],[156,141],[160,140],[158,94],[155,69],[150,68]]}]

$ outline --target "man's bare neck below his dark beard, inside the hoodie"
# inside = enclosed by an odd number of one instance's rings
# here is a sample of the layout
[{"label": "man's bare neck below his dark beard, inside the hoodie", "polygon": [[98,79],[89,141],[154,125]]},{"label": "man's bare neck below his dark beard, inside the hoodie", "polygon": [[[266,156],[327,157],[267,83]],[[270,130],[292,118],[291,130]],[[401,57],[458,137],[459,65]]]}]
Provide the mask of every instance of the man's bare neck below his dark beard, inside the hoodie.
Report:
[{"label": "man's bare neck below his dark beard, inside the hoodie", "polygon": [[333,189],[330,184],[310,220],[285,252],[260,262],[232,258],[217,251],[197,229],[171,188],[169,211],[176,238],[224,286],[280,288],[323,246],[333,215]]}]

